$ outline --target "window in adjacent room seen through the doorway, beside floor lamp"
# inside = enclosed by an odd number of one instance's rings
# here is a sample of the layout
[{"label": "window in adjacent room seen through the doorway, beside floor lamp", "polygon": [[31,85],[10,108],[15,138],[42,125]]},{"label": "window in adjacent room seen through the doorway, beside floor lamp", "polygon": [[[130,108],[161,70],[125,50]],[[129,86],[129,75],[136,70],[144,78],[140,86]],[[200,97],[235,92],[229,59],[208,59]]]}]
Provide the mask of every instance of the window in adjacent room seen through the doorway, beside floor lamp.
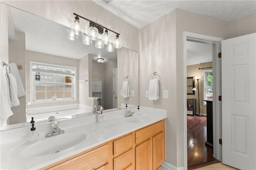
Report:
[{"label": "window in adjacent room seen through the doorway, beside floor lamp", "polygon": [[[204,75],[204,100],[212,100],[212,70],[203,70]],[[204,105],[206,105],[206,102],[204,101]]]}]

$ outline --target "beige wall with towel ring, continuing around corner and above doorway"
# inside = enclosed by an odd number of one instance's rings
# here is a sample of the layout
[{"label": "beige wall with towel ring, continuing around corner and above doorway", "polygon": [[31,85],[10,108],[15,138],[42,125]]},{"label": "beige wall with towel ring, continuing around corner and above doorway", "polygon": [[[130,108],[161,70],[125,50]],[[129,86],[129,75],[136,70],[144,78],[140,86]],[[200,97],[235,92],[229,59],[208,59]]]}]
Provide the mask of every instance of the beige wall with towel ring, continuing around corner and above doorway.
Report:
[{"label": "beige wall with towel ring, continuing around corner and above doorway", "polygon": [[[254,18],[254,15],[242,17],[236,23],[252,25]],[[232,21],[175,9],[140,29],[140,105],[167,109],[166,162],[173,166],[184,166],[183,31],[226,39],[231,36],[228,32],[232,24]],[[234,26],[232,35],[235,36],[256,32],[254,25],[246,29]],[[154,71],[160,75],[158,101],[145,98]],[[162,99],[163,90],[169,90],[169,99]]]}]

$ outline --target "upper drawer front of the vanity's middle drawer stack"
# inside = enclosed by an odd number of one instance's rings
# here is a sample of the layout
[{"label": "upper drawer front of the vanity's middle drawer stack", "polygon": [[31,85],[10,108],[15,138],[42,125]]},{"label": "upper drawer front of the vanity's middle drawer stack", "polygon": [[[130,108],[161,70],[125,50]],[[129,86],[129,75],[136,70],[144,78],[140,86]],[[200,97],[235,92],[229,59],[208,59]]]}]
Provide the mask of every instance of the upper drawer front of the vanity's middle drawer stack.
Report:
[{"label": "upper drawer front of the vanity's middle drawer stack", "polygon": [[114,157],[132,149],[132,134],[122,137],[113,142],[113,155]]}]

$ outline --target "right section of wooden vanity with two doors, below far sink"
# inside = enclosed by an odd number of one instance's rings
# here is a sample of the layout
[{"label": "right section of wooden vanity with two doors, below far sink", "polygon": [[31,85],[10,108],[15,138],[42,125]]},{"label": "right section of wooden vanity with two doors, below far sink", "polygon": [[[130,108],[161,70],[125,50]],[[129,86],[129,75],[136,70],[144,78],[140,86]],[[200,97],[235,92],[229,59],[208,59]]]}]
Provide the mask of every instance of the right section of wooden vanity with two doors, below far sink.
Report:
[{"label": "right section of wooden vanity with two doors, below far sink", "polygon": [[156,170],[165,160],[164,120],[135,132],[136,170]]}]

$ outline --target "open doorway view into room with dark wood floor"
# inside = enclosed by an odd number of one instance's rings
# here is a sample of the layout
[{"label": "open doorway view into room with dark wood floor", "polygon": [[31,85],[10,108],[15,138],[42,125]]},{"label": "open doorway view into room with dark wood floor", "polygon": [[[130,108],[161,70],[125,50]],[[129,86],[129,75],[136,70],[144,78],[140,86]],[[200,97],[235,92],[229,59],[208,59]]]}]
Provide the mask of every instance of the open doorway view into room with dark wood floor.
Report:
[{"label": "open doorway view into room with dark wood floor", "polygon": [[[211,42],[187,39],[187,159],[188,168],[214,161],[212,111],[206,110],[206,102],[212,103]],[[192,79],[191,79],[192,78]],[[192,90],[192,93],[191,93]],[[207,106],[208,109],[212,105]]]}]

